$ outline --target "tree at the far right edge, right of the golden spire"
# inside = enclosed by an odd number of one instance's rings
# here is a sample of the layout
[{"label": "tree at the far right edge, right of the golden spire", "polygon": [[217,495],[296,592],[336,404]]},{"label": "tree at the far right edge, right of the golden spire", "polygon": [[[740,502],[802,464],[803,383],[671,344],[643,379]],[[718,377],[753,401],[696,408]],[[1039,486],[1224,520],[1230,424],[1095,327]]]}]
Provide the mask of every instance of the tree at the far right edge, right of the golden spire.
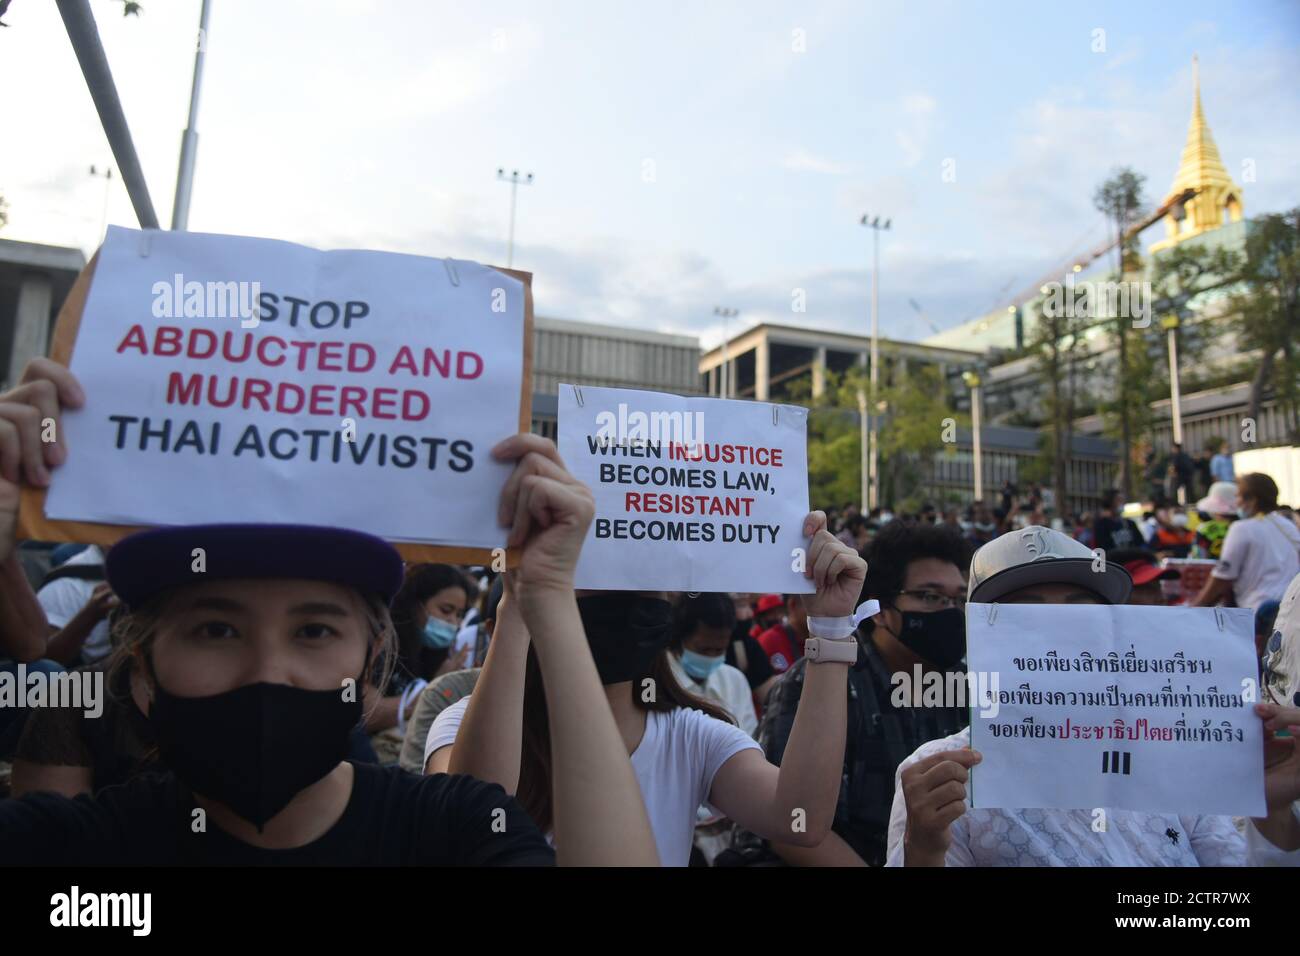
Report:
[{"label": "tree at the far right edge, right of the golden spire", "polygon": [[1258,421],[1264,392],[1282,408],[1287,437],[1300,444],[1296,377],[1300,375],[1300,207],[1261,216],[1245,239],[1236,297],[1238,336],[1243,351],[1258,349],[1251,381],[1249,418]]}]

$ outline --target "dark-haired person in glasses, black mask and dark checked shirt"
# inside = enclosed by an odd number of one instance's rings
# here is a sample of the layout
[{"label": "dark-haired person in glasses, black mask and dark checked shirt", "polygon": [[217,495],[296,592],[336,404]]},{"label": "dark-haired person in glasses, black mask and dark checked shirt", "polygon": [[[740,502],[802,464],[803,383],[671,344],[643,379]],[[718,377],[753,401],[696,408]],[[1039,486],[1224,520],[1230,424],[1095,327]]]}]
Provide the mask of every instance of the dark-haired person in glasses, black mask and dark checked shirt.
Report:
[{"label": "dark-haired person in glasses, black mask and dark checked shirt", "polygon": [[[880,866],[898,763],[927,740],[953,734],[967,722],[965,701],[923,706],[898,688],[915,687],[919,693],[916,676],[963,670],[970,545],[948,525],[890,522],[871,542],[866,559],[862,598],[879,601],[880,613],[858,628],[833,832],[816,847],[771,844],[796,866]],[[797,662],[777,683],[763,714],[758,740],[774,763],[783,762],[806,675],[807,663]],[[758,842],[737,832],[734,849],[741,857],[755,857]]]}]

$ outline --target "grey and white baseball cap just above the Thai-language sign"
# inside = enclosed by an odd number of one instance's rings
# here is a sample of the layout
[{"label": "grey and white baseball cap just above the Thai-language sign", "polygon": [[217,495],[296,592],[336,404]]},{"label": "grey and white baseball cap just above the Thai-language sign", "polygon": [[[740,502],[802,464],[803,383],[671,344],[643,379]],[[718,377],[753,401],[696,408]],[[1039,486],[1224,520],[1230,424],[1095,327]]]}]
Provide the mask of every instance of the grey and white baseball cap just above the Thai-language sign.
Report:
[{"label": "grey and white baseball cap just above the Thai-language sign", "polygon": [[992,604],[1034,584],[1078,584],[1109,604],[1124,604],[1134,581],[1123,566],[1100,555],[1060,531],[1032,524],[994,537],[971,558],[966,600]]}]

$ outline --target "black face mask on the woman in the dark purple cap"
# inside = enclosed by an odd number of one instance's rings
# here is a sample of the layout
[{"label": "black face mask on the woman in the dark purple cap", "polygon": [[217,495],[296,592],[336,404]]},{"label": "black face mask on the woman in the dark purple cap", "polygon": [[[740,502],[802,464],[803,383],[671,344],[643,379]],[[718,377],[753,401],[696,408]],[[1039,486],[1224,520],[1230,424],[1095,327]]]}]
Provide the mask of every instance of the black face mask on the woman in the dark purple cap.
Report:
[{"label": "black face mask on the woman in the dark purple cap", "polygon": [[[151,669],[152,670],[152,669]],[[343,689],[244,684],[177,697],[153,679],[150,722],[164,763],[192,791],[261,827],[348,753],[361,721],[360,682]]]}]

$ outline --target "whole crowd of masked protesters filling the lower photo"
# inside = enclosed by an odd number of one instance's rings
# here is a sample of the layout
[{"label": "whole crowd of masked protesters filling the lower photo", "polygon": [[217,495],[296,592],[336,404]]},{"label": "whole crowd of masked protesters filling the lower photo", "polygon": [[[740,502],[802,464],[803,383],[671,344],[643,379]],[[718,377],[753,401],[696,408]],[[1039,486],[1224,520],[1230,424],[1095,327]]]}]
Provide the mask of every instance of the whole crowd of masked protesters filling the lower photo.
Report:
[{"label": "whole crowd of masked protesters filling the lower photo", "polygon": [[[83,401],[46,360],[0,395],[0,671],[105,689],[95,715],[0,708],[6,862],[1300,862],[1300,525],[1221,446],[1153,459],[1136,507],[1008,483],[814,511],[810,593],[584,592],[592,496],[538,436],[494,450],[502,574],[339,528],[20,544],[20,485],[69,454],[31,423]],[[972,809],[967,708],[892,680],[963,671],[968,601],[1251,609],[1268,816],[1114,810],[1098,834],[1084,810]]]}]

